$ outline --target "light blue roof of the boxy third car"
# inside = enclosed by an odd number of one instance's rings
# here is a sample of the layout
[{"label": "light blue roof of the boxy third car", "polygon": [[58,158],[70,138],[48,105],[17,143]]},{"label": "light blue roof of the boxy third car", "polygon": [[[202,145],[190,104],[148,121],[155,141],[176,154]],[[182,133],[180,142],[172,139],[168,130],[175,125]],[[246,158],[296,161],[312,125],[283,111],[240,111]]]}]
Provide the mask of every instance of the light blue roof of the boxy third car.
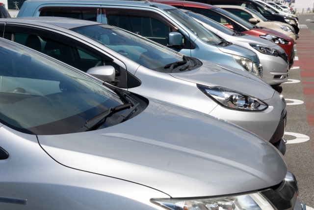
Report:
[{"label": "light blue roof of the boxy third car", "polygon": [[[161,4],[161,3],[155,3],[151,2],[148,0],[142,0],[142,1],[129,1],[129,0],[27,0],[27,1],[44,1],[47,3],[50,1],[53,4],[67,4],[67,3],[75,3],[75,4],[80,4],[80,5],[88,5],[88,4],[95,4],[95,5],[119,5],[119,6],[138,6],[138,7],[147,7],[147,8],[152,8],[152,4],[156,5],[160,9],[173,9],[173,6],[167,5],[167,4]],[[26,2],[27,2],[26,1]]]}]

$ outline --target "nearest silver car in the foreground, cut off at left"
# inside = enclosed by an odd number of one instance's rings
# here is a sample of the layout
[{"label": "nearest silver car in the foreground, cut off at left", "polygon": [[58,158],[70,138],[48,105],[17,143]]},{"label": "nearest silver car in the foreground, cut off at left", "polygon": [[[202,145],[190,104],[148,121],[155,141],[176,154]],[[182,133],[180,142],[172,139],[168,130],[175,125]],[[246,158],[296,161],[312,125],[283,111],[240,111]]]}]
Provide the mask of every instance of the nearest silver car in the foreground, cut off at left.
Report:
[{"label": "nearest silver car in the foreground, cut off at left", "polygon": [[2,38],[0,69],[1,210],[302,210],[283,156],[233,124]]}]

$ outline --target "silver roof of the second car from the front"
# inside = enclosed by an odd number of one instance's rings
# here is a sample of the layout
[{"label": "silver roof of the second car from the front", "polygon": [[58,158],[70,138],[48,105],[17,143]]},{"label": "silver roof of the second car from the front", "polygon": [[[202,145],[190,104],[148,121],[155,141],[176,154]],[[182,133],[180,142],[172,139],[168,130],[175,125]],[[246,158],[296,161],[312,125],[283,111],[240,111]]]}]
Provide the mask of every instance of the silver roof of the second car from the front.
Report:
[{"label": "silver roof of the second car from the front", "polygon": [[64,29],[73,29],[84,26],[99,25],[102,23],[94,21],[86,21],[73,18],[60,18],[60,17],[22,17],[22,18],[0,18],[1,22],[7,23],[20,23],[20,24],[29,24],[29,25],[52,25],[61,27]]}]

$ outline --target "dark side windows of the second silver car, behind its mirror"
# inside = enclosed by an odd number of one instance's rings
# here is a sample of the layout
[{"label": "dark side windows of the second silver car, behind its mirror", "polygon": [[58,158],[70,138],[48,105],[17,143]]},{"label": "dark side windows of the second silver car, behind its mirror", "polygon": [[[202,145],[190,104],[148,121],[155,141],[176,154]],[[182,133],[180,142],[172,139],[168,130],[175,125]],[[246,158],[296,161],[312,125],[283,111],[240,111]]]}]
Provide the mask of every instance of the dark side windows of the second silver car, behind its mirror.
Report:
[{"label": "dark side windows of the second silver car, behind its mirror", "polygon": [[44,53],[84,72],[92,67],[111,65],[116,71],[115,81],[111,84],[119,88],[127,89],[131,88],[130,86],[140,85],[138,79],[111,57],[59,33],[7,24],[4,38]]}]

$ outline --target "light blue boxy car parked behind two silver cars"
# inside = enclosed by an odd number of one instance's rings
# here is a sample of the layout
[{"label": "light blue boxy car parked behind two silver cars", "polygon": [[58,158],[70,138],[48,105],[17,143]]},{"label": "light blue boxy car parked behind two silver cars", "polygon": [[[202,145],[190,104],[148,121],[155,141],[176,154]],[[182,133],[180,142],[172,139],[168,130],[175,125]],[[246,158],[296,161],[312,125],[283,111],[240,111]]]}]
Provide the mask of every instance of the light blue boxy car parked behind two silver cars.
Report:
[{"label": "light blue boxy car parked behind two silver cars", "polygon": [[[26,6],[21,8],[23,10],[21,17],[27,16],[57,16],[57,17],[76,17],[79,18],[80,11],[78,12],[76,8],[78,5],[75,0],[62,1],[58,5],[53,1],[52,4],[48,4],[48,1],[29,1]],[[95,4],[94,4],[95,3]],[[72,4],[72,7],[70,6]],[[94,4],[94,5],[93,5]],[[113,1],[98,1],[93,2],[89,6],[96,6],[91,11],[90,8],[82,7],[81,10],[85,10],[86,13],[94,14],[97,10],[97,6],[102,4],[105,5],[118,5]],[[64,5],[63,8],[59,6]],[[139,34],[141,36],[147,37],[159,44],[167,46],[177,52],[180,52],[186,56],[192,56],[199,59],[214,61],[218,63],[223,63],[229,66],[233,66],[244,71],[249,71],[257,76],[261,76],[262,67],[260,65],[260,60],[256,53],[247,48],[243,48],[238,45],[232,45],[231,43],[226,43],[220,40],[213,33],[206,30],[203,26],[199,25],[192,18],[187,16],[187,19],[183,17],[184,13],[175,13],[172,15],[164,15],[165,9],[172,9],[174,7],[167,5],[160,5],[153,13],[147,12],[151,8],[151,4],[147,2],[132,2],[123,1],[124,8],[118,11],[116,8],[110,10],[107,8],[107,13],[105,17],[99,16],[99,20],[94,17],[94,21],[99,21],[103,23],[108,23],[109,25],[116,26],[125,30],[129,30],[133,33]],[[56,7],[57,6],[57,7]],[[125,8],[132,7],[132,11],[129,12]],[[135,6],[135,7],[134,7]],[[139,7],[138,7],[139,6]],[[138,10],[139,8],[144,8],[144,10]],[[156,8],[156,7],[155,7]],[[100,9],[100,8],[99,8]],[[102,14],[105,14],[105,8]],[[117,12],[115,12],[117,11]],[[100,12],[100,11],[99,11]],[[126,17],[126,15],[128,17]],[[85,15],[86,17],[91,17],[91,15]],[[120,16],[122,16],[120,18]],[[102,17],[102,18],[100,18]],[[147,19],[154,18],[155,21],[150,22],[150,26],[144,26],[141,22],[145,22]],[[82,18],[86,19],[86,18]],[[130,19],[130,20],[127,20]],[[87,19],[90,20],[90,19]],[[127,22],[126,22],[127,21]],[[131,22],[128,22],[131,21]],[[182,36],[180,43],[173,43],[169,45],[168,34],[173,32],[172,35]],[[181,33],[181,34],[179,34]],[[236,58],[235,58],[236,56]],[[249,63],[249,64],[247,64]],[[253,64],[253,65],[252,65]]]}]

